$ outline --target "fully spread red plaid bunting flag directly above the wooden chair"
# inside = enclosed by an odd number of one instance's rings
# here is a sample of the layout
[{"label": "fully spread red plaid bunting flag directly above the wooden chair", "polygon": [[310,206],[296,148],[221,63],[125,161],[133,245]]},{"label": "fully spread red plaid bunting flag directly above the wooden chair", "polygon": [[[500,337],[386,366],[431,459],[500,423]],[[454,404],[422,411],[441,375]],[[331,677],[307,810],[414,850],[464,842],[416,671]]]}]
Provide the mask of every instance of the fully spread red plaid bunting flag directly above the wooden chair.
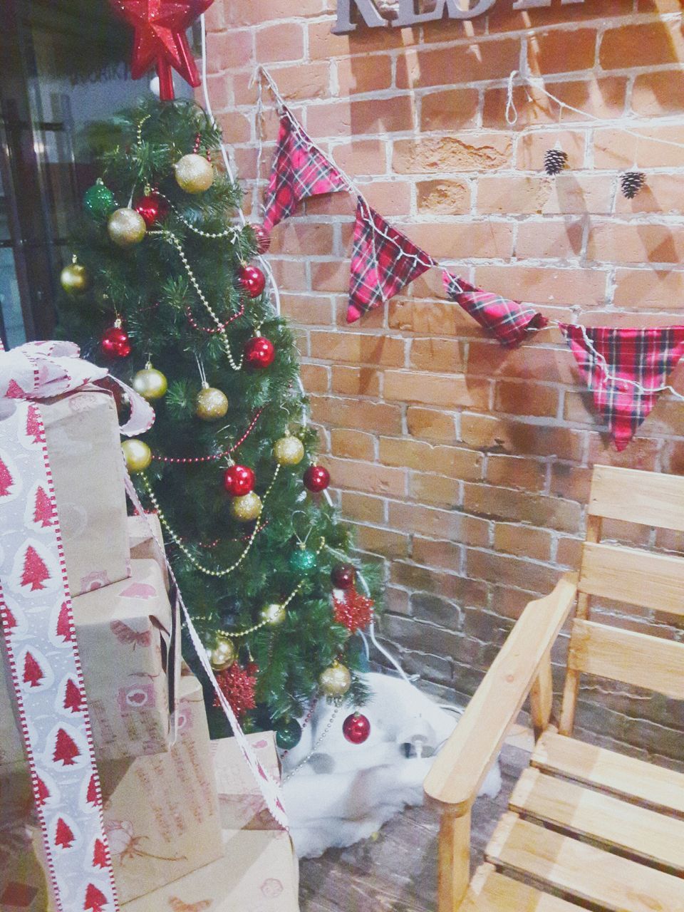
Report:
[{"label": "fully spread red plaid bunting flag directly above the wooden chair", "polygon": [[624,450],[684,356],[684,326],[560,327],[616,449]]}]

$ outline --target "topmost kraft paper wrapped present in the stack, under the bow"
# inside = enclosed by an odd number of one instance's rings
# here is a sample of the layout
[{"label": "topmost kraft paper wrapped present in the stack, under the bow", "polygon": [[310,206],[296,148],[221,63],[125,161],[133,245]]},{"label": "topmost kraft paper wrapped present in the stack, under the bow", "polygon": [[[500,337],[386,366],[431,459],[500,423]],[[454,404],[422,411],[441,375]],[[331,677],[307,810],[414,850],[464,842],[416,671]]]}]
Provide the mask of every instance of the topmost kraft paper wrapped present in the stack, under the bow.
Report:
[{"label": "topmost kraft paper wrapped present in the stack, under the bow", "polygon": [[[130,572],[119,420],[107,390],[88,386],[40,404],[71,596]],[[40,494],[36,497],[39,515]]]}]

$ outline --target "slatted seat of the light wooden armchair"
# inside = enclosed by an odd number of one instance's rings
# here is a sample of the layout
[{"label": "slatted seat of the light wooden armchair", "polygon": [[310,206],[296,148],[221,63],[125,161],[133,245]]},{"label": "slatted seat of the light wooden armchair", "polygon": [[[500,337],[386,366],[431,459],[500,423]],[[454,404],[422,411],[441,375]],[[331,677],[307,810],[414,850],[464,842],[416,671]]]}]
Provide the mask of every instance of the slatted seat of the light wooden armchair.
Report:
[{"label": "slatted seat of the light wooden armchair", "polygon": [[554,731],[544,733],[532,764],[464,909],[684,912],[681,773]]}]

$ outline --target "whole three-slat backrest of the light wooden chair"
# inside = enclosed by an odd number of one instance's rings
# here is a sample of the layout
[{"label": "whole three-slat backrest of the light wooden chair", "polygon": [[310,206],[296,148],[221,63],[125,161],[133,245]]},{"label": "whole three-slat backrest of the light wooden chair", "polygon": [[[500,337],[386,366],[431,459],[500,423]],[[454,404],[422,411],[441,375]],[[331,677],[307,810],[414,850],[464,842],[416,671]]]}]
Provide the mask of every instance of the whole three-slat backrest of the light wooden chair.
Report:
[{"label": "whole three-slat backrest of the light wooden chair", "polygon": [[590,620],[592,600],[599,599],[624,604],[626,615],[638,606],[647,617],[648,611],[675,616],[674,624],[684,617],[684,555],[603,544],[604,520],[684,532],[684,478],[594,467],[559,724],[565,735],[573,731],[583,673],[684,700],[684,643],[668,638],[667,629],[653,637],[620,627],[619,618],[616,627]]}]

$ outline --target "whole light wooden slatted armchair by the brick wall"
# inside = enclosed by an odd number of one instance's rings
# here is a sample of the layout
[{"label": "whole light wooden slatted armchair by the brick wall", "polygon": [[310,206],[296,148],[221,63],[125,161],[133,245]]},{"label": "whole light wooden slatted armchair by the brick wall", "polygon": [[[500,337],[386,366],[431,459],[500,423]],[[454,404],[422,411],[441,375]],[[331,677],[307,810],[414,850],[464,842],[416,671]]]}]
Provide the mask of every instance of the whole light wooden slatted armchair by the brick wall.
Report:
[{"label": "whole light wooden slatted armchair by the brick wall", "polygon": [[[425,781],[439,912],[684,912],[684,774],[572,737],[582,672],[684,699],[684,643],[589,610],[599,596],[684,616],[684,558],[601,544],[604,519],[684,532],[684,478],[595,468],[579,574],[525,607]],[[575,602],[556,731],[550,653]],[[471,880],[472,803],[528,694],[531,765]]]}]

